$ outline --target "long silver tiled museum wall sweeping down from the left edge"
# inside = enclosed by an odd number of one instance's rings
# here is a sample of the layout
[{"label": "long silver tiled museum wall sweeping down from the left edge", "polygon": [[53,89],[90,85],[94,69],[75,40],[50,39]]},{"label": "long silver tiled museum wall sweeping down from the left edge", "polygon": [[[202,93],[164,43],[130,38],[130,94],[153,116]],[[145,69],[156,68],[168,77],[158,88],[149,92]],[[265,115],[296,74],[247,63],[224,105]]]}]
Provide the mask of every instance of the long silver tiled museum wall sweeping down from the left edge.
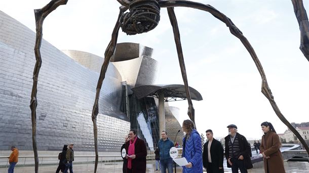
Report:
[{"label": "long silver tiled museum wall sweeping down from the left edge", "polygon": [[[0,11],[0,150],[11,145],[32,150],[29,104],[34,41],[32,30]],[[94,151],[91,112],[99,73],[46,40],[41,55],[36,108],[38,150],[59,150],[64,144],[74,143],[76,151]],[[97,58],[85,52],[83,56]],[[121,81],[121,74],[110,64],[99,100],[99,151],[119,151],[130,129],[129,119],[120,111]]]}]

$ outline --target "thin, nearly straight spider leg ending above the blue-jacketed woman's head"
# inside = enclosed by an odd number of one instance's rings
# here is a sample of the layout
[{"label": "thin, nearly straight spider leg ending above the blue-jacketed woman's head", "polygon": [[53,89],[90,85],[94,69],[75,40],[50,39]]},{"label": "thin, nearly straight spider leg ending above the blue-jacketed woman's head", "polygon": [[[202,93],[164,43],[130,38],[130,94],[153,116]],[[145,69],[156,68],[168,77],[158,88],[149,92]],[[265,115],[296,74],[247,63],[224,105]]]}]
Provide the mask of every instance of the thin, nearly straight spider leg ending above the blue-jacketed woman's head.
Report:
[{"label": "thin, nearly straight spider leg ending above the blue-jacketed woman's head", "polygon": [[189,105],[188,116],[195,123],[194,108],[193,108],[193,104],[192,104],[192,100],[191,100],[187,74],[186,74],[186,71],[185,71],[185,65],[184,65],[181,42],[180,42],[180,34],[179,34],[177,19],[176,19],[175,13],[174,13],[174,8],[173,7],[167,8],[167,12],[169,14],[169,18],[170,18],[170,21],[171,21],[171,24],[172,24],[172,27],[173,27],[180,70],[181,70],[182,79],[183,79],[183,83],[184,83],[184,87],[185,87],[185,93],[186,93],[186,96],[187,96],[187,99],[188,99],[188,105]]}]

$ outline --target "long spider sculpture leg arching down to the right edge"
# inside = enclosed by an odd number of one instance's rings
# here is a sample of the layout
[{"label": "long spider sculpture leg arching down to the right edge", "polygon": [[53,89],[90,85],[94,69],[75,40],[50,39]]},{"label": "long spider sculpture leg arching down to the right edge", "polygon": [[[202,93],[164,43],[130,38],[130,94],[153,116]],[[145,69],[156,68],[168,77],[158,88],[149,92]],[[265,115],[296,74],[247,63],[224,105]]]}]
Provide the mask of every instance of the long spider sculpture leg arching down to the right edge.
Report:
[{"label": "long spider sculpture leg arching down to the right edge", "polygon": [[257,58],[257,55],[254,52],[254,49],[252,48],[250,42],[247,40],[247,38],[243,35],[243,33],[235,26],[235,24],[228,18],[226,17],[223,13],[219,12],[217,9],[213,8],[210,5],[205,5],[201,3],[196,3],[196,2],[191,2],[191,1],[183,1],[183,0],[178,0],[178,1],[159,1],[160,7],[189,7],[189,8],[194,8],[194,9],[199,9],[203,10],[206,12],[211,13],[215,18],[219,19],[223,23],[226,24],[226,26],[229,28],[229,31],[231,34],[235,35],[238,37],[242,44],[245,46],[249,54],[251,55],[260,75],[262,78],[262,93],[263,95],[268,99],[269,103],[271,103],[275,113],[279,117],[279,119],[288,127],[291,129],[291,131],[295,134],[295,136],[299,139],[301,144],[305,147],[307,153],[309,153],[309,147],[306,145],[305,141],[303,138],[300,136],[300,134],[296,131],[296,129],[291,125],[291,123],[283,116],[283,114],[280,112],[275,100],[274,96],[271,92],[271,89],[268,86],[266,75],[264,73],[263,67]]}]

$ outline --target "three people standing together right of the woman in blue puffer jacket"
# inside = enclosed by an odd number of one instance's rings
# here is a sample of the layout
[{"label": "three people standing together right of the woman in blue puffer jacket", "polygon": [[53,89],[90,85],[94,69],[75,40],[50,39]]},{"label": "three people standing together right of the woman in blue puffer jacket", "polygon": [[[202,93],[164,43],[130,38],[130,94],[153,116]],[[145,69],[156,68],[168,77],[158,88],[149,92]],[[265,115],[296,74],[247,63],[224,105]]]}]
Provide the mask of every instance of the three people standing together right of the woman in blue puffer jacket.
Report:
[{"label": "three people standing together right of the woman in blue puffer jacket", "polygon": [[[203,166],[207,172],[224,172],[223,157],[226,158],[227,167],[231,167],[233,173],[240,170],[242,173],[253,167],[251,162],[251,145],[247,139],[237,132],[237,126],[230,124],[227,126],[228,135],[225,139],[225,151],[221,143],[213,138],[211,129],[206,131],[208,141],[204,144]],[[264,133],[262,141],[254,143],[254,148],[260,150],[263,156],[265,173],[285,173],[283,157],[280,152],[280,138],[275,128],[270,122],[261,123]],[[224,154],[223,154],[224,153]],[[257,152],[258,153],[258,152]]]}]

